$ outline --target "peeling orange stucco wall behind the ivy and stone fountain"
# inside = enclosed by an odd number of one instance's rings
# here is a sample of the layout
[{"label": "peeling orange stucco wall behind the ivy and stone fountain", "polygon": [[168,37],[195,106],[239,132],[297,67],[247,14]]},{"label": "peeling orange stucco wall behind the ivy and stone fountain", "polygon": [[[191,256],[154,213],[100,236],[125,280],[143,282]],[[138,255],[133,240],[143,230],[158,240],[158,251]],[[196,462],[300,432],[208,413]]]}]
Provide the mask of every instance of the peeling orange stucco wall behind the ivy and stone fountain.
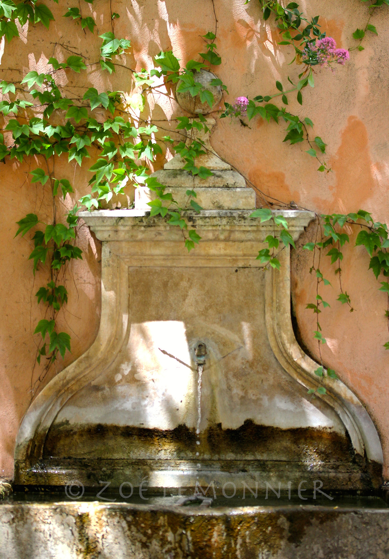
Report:
[{"label": "peeling orange stucco wall behind the ivy and stone fountain", "polygon": [[[61,17],[67,7],[77,2],[50,3],[56,18],[47,31],[40,24],[26,25],[21,39],[1,46],[1,79],[20,80],[29,70],[44,71],[50,56],[60,61],[69,53],[98,60],[98,34],[109,31],[110,3],[95,0],[82,3],[83,16],[93,15],[97,22],[94,36],[84,33],[70,18]],[[231,102],[236,96],[254,97],[274,93],[276,79],[287,84],[287,76],[295,80],[301,67],[288,65],[292,50],[278,46],[280,37],[269,20],[263,22],[257,0],[248,5],[244,0],[215,0],[217,16],[217,45],[222,64],[215,73],[227,84]],[[321,16],[322,30],[338,42],[338,47],[355,46],[352,32],[367,19],[366,4],[359,0],[305,0],[301,8],[310,16]],[[112,11],[120,14],[115,21],[115,34],[132,41],[131,55],[120,61],[124,66],[141,69],[152,65],[152,56],[161,49],[173,48],[174,54],[186,62],[198,59],[203,49],[201,35],[215,30],[211,0],[112,0]],[[362,52],[353,51],[350,60],[336,72],[318,70],[315,88],[306,88],[300,107],[290,97],[290,110],[309,116],[314,122],[314,135],[328,144],[329,174],[317,172],[317,162],[305,153],[305,144],[282,143],[284,126],[268,124],[262,119],[241,127],[238,121],[217,122],[212,145],[230,164],[243,173],[265,194],[283,202],[294,200],[317,212],[349,212],[360,207],[371,211],[376,220],[389,222],[389,113],[387,89],[389,82],[389,8],[383,7],[372,17],[378,37],[369,34]],[[61,58],[62,57],[62,58]],[[96,66],[87,73],[74,76],[63,72],[61,83],[68,95],[75,87],[97,87],[129,91],[130,73],[118,68],[111,77],[102,75]],[[74,81],[72,81],[74,80]],[[73,88],[73,89],[72,89]],[[150,104],[150,114],[169,129],[169,119],[182,115],[177,103],[163,98]],[[32,115],[31,115],[32,116]],[[101,111],[99,117],[105,117]],[[60,116],[56,117],[60,120]],[[163,122],[165,121],[165,122]],[[163,132],[165,134],[166,132]],[[89,160],[90,161],[90,160]],[[53,207],[48,183],[45,187],[31,184],[29,170],[39,163],[34,159],[1,165],[1,324],[0,324],[0,477],[12,477],[13,448],[18,424],[31,399],[31,379],[34,383],[42,368],[34,364],[36,340],[32,335],[37,320],[44,317],[44,306],[37,307],[37,286],[48,280],[42,269],[32,276],[32,247],[30,235],[13,239],[15,222],[29,212],[37,212],[44,221],[51,219]],[[41,164],[41,162],[40,162]],[[160,160],[157,166],[163,164]],[[52,163],[49,162],[50,169]],[[89,177],[65,156],[55,161],[55,175],[66,177],[75,188],[74,197],[86,192]],[[129,192],[129,195],[131,193]],[[65,201],[65,205],[68,201]],[[58,214],[64,206],[60,202]],[[352,233],[350,231],[350,233]],[[310,228],[299,242],[311,239]],[[80,226],[80,246],[84,259],[72,264],[66,277],[69,304],[60,312],[61,329],[72,334],[72,354],[56,364],[56,371],[66,366],[91,345],[99,324],[100,247],[86,226]],[[353,236],[355,238],[355,235]],[[353,244],[353,243],[352,243]],[[381,436],[385,474],[389,478],[389,352],[382,344],[389,339],[384,317],[386,299],[378,292],[378,284],[367,271],[368,256],[364,248],[345,251],[343,286],[352,297],[355,311],[336,302],[337,280],[327,263],[322,272],[333,287],[325,288],[325,299],[331,309],[321,315],[321,324],[328,344],[322,348],[327,366],[334,368],[340,378],[364,402]],[[293,303],[301,339],[306,348],[317,356],[312,338],[314,316],[305,310],[315,297],[315,281],[309,274],[311,254],[297,250],[292,257]],[[325,259],[324,259],[325,260]],[[329,260],[329,259],[328,259]],[[36,389],[55,375],[54,369]]]}]

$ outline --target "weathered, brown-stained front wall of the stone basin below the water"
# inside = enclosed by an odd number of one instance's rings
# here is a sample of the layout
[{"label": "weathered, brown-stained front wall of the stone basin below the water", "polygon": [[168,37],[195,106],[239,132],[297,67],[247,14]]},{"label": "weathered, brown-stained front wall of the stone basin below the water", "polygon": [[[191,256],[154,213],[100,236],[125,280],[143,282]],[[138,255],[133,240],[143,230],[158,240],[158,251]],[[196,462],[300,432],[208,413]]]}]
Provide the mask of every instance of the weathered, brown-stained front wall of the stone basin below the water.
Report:
[{"label": "weathered, brown-stained front wall of the stone basin below the water", "polygon": [[0,559],[386,559],[388,509],[0,505]]}]

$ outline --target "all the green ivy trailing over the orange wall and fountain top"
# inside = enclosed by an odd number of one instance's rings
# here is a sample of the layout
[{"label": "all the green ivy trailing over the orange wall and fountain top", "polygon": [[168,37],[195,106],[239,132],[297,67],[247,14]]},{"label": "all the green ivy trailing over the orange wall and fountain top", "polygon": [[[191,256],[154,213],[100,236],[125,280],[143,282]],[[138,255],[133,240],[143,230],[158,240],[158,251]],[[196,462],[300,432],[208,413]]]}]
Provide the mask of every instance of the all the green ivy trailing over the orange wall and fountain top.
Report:
[{"label": "all the green ivy trailing over the orange wall and fountain top", "polygon": [[[54,0],[58,3],[58,0]],[[249,2],[250,0],[247,0]],[[361,0],[362,2],[366,0]],[[88,2],[89,4],[92,1]],[[262,117],[270,122],[286,122],[287,134],[284,141],[291,145],[306,142],[307,154],[315,157],[319,162],[320,172],[330,172],[323,157],[325,156],[326,144],[320,136],[312,135],[310,129],[314,128],[309,117],[300,117],[287,111],[288,96],[296,93],[297,101],[302,105],[302,93],[304,88],[314,88],[315,67],[317,65],[330,66],[344,64],[348,59],[348,52],[353,49],[363,50],[361,42],[367,31],[377,33],[371,25],[371,16],[376,8],[383,4],[389,4],[389,0],[377,0],[368,7],[369,18],[363,30],[354,32],[354,39],[359,41],[349,51],[335,49],[320,30],[319,16],[308,20],[298,10],[298,4],[288,3],[283,7],[280,2],[273,0],[259,1],[263,11],[263,19],[268,20],[272,15],[282,31],[283,40],[280,45],[292,46],[295,56],[292,63],[303,64],[303,70],[295,79],[288,78],[291,87],[277,81],[276,92],[269,95],[258,95],[253,100],[238,98],[235,104],[225,102],[225,111],[221,117],[237,117],[241,124],[248,126],[245,118],[250,121],[255,116]],[[215,13],[215,6],[212,2]],[[78,7],[68,8],[63,14],[71,18],[75,25],[81,25],[84,34],[94,32],[96,22],[92,17],[82,17],[80,4]],[[185,219],[183,210],[191,209],[196,212],[202,210],[196,202],[196,192],[188,190],[188,200],[185,207],[180,207],[173,196],[165,192],[165,186],[155,177],[151,177],[151,165],[158,155],[163,154],[162,146],[170,146],[176,154],[181,155],[185,161],[184,169],[207,178],[212,171],[206,167],[197,167],[196,158],[206,153],[204,142],[198,137],[199,132],[208,131],[206,119],[198,115],[196,119],[178,117],[176,134],[182,134],[181,141],[174,141],[169,135],[163,135],[163,127],[151,119],[143,119],[144,109],[148,104],[149,94],[161,93],[162,86],[169,82],[175,86],[177,92],[189,92],[192,97],[200,96],[203,103],[210,107],[214,105],[214,97],[201,83],[196,82],[195,72],[202,68],[215,67],[221,64],[221,56],[217,51],[216,34],[217,19],[215,14],[215,33],[209,31],[203,36],[205,52],[199,53],[200,60],[189,60],[181,67],[179,60],[172,51],[161,51],[155,56],[155,67],[151,70],[142,69],[136,72],[124,64],[120,56],[127,56],[131,42],[129,39],[115,36],[113,22],[120,17],[111,11],[111,30],[99,35],[101,39],[100,53],[97,60],[84,60],[78,54],[72,54],[60,62],[51,56],[48,60],[48,69],[44,73],[31,71],[23,76],[20,82],[0,82],[2,89],[2,101],[0,112],[6,117],[3,134],[0,135],[0,160],[16,158],[20,162],[25,158],[35,157],[40,165],[31,171],[31,183],[40,183],[44,186],[50,184],[53,197],[53,219],[46,223],[39,219],[36,214],[28,214],[17,222],[16,235],[26,235],[34,230],[32,241],[34,249],[29,258],[32,260],[32,269],[35,274],[39,268],[46,269],[48,281],[39,287],[36,292],[38,305],[44,305],[45,318],[36,325],[34,334],[37,341],[37,363],[44,364],[39,378],[32,383],[31,391],[34,395],[35,388],[41,382],[51,365],[60,355],[70,351],[70,335],[59,331],[56,318],[58,313],[67,304],[68,292],[65,287],[66,276],[70,263],[75,259],[82,259],[82,251],[77,246],[78,234],[78,212],[81,209],[91,210],[101,207],[109,202],[114,195],[123,194],[127,184],[135,187],[147,186],[155,193],[155,200],[149,202],[150,216],[159,215],[168,224],[178,226],[183,234],[184,245],[188,251],[195,248],[201,240],[196,230],[190,228]],[[27,21],[31,25],[42,23],[49,29],[50,21],[54,20],[53,14],[45,4],[37,4],[33,0],[22,1],[15,4],[12,0],[0,0],[0,36],[5,36],[10,42],[13,37],[18,36],[16,20],[20,25]],[[319,45],[319,46],[318,46]],[[102,91],[96,88],[88,88],[79,96],[69,97],[65,89],[57,79],[59,72],[67,69],[76,74],[86,72],[87,65],[100,68],[102,72],[112,74],[117,67],[126,68],[132,79],[132,94],[129,108],[125,107],[124,92]],[[161,78],[163,82],[161,82]],[[211,82],[212,86],[220,86],[222,91],[227,92],[227,87],[218,78]],[[167,89],[167,91],[169,91]],[[163,93],[173,98],[170,93]],[[277,107],[270,101],[281,97],[282,107]],[[240,100],[240,101],[239,101]],[[245,100],[245,101],[242,101]],[[98,122],[94,111],[103,109],[106,118]],[[42,117],[36,113],[41,112]],[[53,115],[64,115],[64,124],[53,124]],[[55,159],[61,154],[68,154],[68,161],[74,162],[80,167],[91,158],[91,149],[97,149],[99,156],[88,168],[91,173],[89,181],[90,192],[74,203],[72,209],[67,212],[65,222],[57,221],[57,206],[60,198],[70,200],[73,193],[72,184],[65,178],[56,176]],[[278,236],[269,235],[266,239],[267,248],[259,251],[258,259],[272,268],[279,268],[277,258],[281,246],[291,245],[295,247],[292,236],[288,231],[288,224],[283,216],[275,215],[273,207],[285,207],[286,204],[265,196],[255,185],[253,186],[263,200],[262,208],[255,210],[253,217],[260,221],[273,220],[274,224],[281,226]],[[338,300],[347,304],[350,311],[353,310],[347,291],[343,291],[341,285],[341,267],[343,259],[341,248],[349,243],[349,236],[343,228],[356,226],[360,228],[357,236],[357,245],[364,245],[370,257],[369,268],[377,278],[382,274],[389,276],[389,247],[388,231],[385,224],[376,223],[368,212],[360,210],[357,214],[348,215],[317,215],[317,234],[315,243],[308,243],[305,249],[312,252],[311,273],[316,276],[316,300],[307,305],[316,314],[316,330],[319,354],[321,358],[321,344],[325,343],[319,321],[319,315],[329,304],[323,299],[322,287],[330,285],[330,282],[322,276],[320,262],[322,255],[331,258],[331,263],[336,266],[335,274],[339,278],[340,293]],[[325,253],[323,251],[326,251]],[[389,283],[381,282],[381,291],[387,293],[388,303],[386,316],[389,320]],[[389,322],[388,322],[389,329]],[[385,344],[389,349],[389,342]],[[324,378],[329,376],[337,378],[335,372],[325,368],[321,360],[321,366],[317,368],[316,375]],[[325,394],[325,387],[319,384],[313,394]]]}]

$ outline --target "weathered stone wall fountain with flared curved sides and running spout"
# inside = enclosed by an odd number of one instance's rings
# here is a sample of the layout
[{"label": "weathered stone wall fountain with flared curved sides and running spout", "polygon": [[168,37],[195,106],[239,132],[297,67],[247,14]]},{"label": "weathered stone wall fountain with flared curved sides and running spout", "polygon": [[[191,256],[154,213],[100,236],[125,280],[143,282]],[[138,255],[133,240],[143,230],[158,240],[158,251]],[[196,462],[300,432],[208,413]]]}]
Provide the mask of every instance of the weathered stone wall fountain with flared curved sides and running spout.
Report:
[{"label": "weathered stone wall fountain with flared curved sides and running spout", "polygon": [[[182,495],[201,495],[206,488],[208,501],[231,494],[234,487],[236,496],[269,486],[289,494],[298,487],[300,495],[302,483],[313,487],[317,480],[327,492],[378,489],[381,444],[363,405],[341,381],[330,378],[325,395],[312,399],[307,394],[319,379],[317,363],[297,344],[292,329],[289,248],[279,253],[279,271],[264,271],[255,257],[273,225],[250,217],[254,191],[217,157],[209,138],[205,141],[208,151],[198,165],[210,167],[211,177],[193,178],[179,157],[155,173],[179,203],[188,188],[197,192],[203,210],[186,211],[186,219],[202,240],[190,253],[179,228],[149,216],[146,202],[153,193],[147,188],[137,193],[134,210],[82,212],[103,243],[101,325],[92,347],[27,411],[17,437],[16,485],[53,488],[77,480],[93,490],[125,482],[148,489],[141,498],[172,494],[181,503]],[[295,240],[314,219],[307,211],[275,213],[286,218]],[[67,506],[63,510],[72,517],[76,505]],[[86,530],[92,533],[98,506],[108,505],[77,506],[82,508],[78,515],[89,515]],[[128,546],[131,540],[135,551],[131,555],[128,547],[124,555],[111,542],[111,555],[96,557],[295,557],[285,547],[295,522],[287,513],[274,513],[273,522],[269,515],[260,520],[255,507],[222,513],[202,507],[192,517],[177,513],[181,520],[175,517],[173,528],[169,514],[176,513],[165,505],[115,505],[115,513],[109,506],[104,513],[98,509],[101,525],[111,522],[106,541],[113,542],[115,522],[126,518],[130,531],[127,536],[121,531],[120,538]],[[61,510],[56,514],[65,514]],[[240,528],[231,520],[236,515],[240,526],[247,523],[239,553]],[[208,523],[195,529],[197,518]],[[336,522],[343,522],[339,518]],[[144,537],[141,526],[159,542],[155,552],[135,541]],[[192,539],[185,544],[178,533],[183,538],[188,530]],[[263,534],[269,530],[283,530],[278,543],[266,543]],[[175,547],[161,543],[162,532],[174,534]],[[329,528],[328,538],[331,533]],[[216,539],[209,549],[219,549],[220,542],[227,546],[220,555],[193,543],[197,537],[211,541],[211,536]],[[194,555],[191,546],[197,549]],[[268,555],[258,555],[262,552]]]}]

